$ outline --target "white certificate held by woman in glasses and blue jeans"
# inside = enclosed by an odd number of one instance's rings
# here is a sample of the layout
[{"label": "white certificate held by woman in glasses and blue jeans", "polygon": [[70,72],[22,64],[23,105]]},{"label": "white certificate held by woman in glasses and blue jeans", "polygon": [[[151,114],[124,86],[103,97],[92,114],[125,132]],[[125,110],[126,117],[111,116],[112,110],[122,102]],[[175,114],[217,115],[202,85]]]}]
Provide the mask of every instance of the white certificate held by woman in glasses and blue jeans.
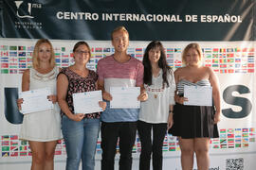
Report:
[{"label": "white certificate held by woman in glasses and blue jeans", "polygon": [[102,101],[101,91],[91,91],[85,93],[73,93],[73,103],[75,113],[92,113],[102,111],[99,101]]}]

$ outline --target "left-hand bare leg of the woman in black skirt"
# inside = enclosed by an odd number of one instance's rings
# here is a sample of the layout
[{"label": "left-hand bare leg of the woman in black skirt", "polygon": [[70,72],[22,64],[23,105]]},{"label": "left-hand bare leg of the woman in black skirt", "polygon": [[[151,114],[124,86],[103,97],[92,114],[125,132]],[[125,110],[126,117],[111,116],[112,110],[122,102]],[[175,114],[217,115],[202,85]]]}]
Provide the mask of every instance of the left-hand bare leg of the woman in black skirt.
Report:
[{"label": "left-hand bare leg of the woman in black skirt", "polygon": [[179,137],[178,140],[181,149],[182,170],[192,170],[194,139],[182,139]]}]

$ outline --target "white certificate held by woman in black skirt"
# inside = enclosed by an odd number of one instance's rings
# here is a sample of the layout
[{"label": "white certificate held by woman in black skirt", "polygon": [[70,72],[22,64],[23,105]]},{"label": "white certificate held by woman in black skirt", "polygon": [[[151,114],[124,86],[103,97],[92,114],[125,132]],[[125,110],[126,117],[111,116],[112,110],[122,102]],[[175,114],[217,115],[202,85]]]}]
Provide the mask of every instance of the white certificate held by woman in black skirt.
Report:
[{"label": "white certificate held by woman in black skirt", "polygon": [[212,87],[184,86],[184,97],[188,98],[184,105],[212,106]]}]

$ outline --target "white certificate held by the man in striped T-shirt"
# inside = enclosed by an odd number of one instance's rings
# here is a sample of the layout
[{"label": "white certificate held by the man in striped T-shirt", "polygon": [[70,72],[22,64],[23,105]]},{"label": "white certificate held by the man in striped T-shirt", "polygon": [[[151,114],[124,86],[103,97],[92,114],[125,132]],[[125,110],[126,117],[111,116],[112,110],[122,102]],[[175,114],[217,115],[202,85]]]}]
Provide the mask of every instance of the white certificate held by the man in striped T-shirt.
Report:
[{"label": "white certificate held by the man in striped T-shirt", "polygon": [[140,108],[140,101],[137,96],[140,94],[139,87],[110,87],[112,109],[137,109]]}]

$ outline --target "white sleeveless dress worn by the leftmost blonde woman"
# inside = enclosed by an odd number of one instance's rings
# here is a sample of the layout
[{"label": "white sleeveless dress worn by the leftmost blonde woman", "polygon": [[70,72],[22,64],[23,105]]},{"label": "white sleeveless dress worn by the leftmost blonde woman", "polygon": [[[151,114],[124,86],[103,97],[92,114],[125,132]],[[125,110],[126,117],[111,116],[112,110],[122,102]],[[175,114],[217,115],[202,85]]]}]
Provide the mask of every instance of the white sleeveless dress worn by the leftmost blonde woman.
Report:
[{"label": "white sleeveless dress worn by the leftmost blonde woman", "polygon": [[[30,68],[29,90],[48,87],[52,94],[56,94],[56,77],[59,68],[54,67],[47,74],[40,74],[35,69]],[[27,141],[49,142],[62,139],[61,114],[58,104],[54,104],[54,109],[33,112],[24,115],[23,124],[19,139]]]}]

